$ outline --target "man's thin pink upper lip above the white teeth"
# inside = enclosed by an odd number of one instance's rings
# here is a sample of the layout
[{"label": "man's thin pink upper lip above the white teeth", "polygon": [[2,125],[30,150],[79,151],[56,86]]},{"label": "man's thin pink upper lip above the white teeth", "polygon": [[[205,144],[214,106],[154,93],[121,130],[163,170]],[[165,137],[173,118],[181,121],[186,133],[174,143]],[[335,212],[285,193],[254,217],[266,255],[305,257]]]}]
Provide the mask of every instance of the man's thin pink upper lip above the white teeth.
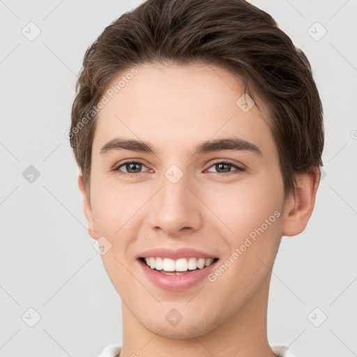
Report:
[{"label": "man's thin pink upper lip above the white teeth", "polygon": [[195,248],[179,248],[179,249],[168,249],[168,248],[154,248],[150,250],[145,250],[141,252],[137,258],[149,258],[149,257],[161,257],[161,258],[170,258],[170,259],[180,259],[180,258],[217,258],[211,253],[202,252]]}]

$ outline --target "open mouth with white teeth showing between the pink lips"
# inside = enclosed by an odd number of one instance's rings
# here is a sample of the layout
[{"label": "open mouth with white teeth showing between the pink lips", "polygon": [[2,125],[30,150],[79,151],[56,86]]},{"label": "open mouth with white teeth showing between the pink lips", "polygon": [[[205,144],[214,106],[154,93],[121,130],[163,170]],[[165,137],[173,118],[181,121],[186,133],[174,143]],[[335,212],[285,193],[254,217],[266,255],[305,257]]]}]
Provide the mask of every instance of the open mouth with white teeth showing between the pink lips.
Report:
[{"label": "open mouth with white teeth showing between the pink lips", "polygon": [[190,257],[170,259],[164,257],[139,257],[139,261],[158,273],[165,275],[184,275],[192,271],[207,268],[218,261],[218,258],[204,259]]}]

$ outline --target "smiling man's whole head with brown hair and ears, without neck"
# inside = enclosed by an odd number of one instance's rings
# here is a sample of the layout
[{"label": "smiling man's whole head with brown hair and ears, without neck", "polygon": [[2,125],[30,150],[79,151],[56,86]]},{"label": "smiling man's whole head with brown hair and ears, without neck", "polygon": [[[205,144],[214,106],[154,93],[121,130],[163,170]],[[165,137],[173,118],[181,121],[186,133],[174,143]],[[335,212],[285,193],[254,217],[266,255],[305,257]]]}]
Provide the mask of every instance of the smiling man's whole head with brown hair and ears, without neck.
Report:
[{"label": "smiling man's whole head with brown hair and ears, without neck", "polygon": [[[155,333],[175,307],[195,335],[266,294],[281,236],[310,219],[324,146],[307,58],[243,0],[149,0],[107,26],[84,56],[69,137],[123,303]],[[164,247],[231,264],[186,305],[198,287],[141,283],[137,255]]]}]

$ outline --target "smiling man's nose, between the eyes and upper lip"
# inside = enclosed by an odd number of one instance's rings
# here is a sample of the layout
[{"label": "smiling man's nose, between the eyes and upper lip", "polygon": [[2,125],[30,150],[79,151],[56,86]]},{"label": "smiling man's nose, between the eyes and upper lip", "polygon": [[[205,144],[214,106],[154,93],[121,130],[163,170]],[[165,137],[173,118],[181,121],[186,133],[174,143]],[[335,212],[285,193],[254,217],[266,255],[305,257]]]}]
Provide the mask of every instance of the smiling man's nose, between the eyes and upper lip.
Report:
[{"label": "smiling man's nose, between the eyes and upper lip", "polygon": [[165,236],[182,236],[202,226],[202,207],[195,185],[183,175],[173,183],[163,176],[161,188],[151,200],[150,225]]}]

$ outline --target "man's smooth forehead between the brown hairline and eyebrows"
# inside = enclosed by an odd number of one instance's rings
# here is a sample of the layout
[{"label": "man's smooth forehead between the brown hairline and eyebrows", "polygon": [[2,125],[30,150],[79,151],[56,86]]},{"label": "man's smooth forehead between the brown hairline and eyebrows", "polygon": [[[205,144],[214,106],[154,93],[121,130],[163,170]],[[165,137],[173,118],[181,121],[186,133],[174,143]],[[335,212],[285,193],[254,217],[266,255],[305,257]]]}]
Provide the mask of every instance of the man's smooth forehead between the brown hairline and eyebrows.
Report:
[{"label": "man's smooth forehead between the brown hairline and eyebrows", "polygon": [[105,96],[93,140],[96,151],[115,135],[177,149],[227,135],[266,149],[273,144],[261,101],[255,105],[242,79],[218,66],[147,63],[123,71]]}]

